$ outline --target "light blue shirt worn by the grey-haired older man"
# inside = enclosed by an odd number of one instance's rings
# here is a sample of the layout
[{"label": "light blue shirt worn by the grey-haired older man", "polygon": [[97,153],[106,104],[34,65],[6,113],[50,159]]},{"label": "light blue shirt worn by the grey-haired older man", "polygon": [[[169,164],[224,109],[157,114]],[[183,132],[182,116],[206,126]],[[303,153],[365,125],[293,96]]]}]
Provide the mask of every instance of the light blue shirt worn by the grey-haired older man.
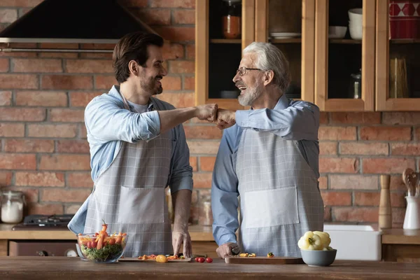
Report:
[{"label": "light blue shirt worn by the grey-haired older man", "polygon": [[218,245],[237,242],[238,179],[232,157],[238,151],[244,129],[272,132],[285,140],[298,141],[309,167],[318,172],[319,109],[309,102],[293,101],[283,94],[274,109],[241,110],[236,125],[223,132],[211,183],[213,236]]}]

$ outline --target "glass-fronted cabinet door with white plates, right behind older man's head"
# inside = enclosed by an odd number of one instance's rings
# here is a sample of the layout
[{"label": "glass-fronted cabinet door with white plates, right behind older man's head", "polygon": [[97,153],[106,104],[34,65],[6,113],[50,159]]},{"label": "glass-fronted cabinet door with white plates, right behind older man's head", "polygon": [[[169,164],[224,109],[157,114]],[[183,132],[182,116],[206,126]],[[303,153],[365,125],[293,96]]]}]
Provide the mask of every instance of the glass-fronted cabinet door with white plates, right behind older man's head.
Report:
[{"label": "glass-fronted cabinet door with white plates, right behind older man's head", "polygon": [[315,0],[255,1],[255,41],[276,45],[289,62],[286,96],[314,102]]}]

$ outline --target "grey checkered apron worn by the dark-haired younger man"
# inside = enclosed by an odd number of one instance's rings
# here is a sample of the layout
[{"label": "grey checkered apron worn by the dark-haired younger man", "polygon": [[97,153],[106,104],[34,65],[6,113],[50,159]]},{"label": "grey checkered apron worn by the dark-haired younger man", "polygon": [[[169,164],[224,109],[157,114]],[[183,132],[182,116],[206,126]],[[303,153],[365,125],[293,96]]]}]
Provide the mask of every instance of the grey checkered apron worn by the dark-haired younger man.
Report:
[{"label": "grey checkered apron worn by the dark-haired younger man", "polygon": [[[130,107],[123,97],[125,109]],[[150,141],[123,141],[118,155],[94,183],[84,232],[127,232],[126,257],[172,254],[165,187],[172,158],[171,132]]]}]

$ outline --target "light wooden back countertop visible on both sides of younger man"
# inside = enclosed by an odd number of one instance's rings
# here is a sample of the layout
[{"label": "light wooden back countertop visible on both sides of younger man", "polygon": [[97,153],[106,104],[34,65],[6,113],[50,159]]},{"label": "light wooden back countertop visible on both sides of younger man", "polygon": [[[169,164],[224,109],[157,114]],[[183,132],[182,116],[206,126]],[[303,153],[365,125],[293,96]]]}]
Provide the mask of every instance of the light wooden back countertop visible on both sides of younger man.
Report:
[{"label": "light wooden back countertop visible on both sides of younger man", "polygon": [[[12,230],[14,225],[0,223],[1,239],[61,239],[76,240],[76,235],[70,230]],[[190,225],[191,240],[214,241],[211,227]]]}]

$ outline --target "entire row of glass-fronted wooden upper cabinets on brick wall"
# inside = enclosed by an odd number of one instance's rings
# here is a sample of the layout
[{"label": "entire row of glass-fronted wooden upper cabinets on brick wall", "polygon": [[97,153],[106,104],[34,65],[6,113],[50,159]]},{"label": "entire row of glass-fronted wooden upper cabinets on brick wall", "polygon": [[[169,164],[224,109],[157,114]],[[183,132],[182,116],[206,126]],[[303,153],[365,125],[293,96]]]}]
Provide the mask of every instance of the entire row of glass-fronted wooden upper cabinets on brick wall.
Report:
[{"label": "entire row of glass-fronted wooden upper cabinets on brick wall", "polygon": [[241,51],[288,58],[286,96],[321,111],[420,111],[420,0],[196,0],[196,104],[245,109]]}]

